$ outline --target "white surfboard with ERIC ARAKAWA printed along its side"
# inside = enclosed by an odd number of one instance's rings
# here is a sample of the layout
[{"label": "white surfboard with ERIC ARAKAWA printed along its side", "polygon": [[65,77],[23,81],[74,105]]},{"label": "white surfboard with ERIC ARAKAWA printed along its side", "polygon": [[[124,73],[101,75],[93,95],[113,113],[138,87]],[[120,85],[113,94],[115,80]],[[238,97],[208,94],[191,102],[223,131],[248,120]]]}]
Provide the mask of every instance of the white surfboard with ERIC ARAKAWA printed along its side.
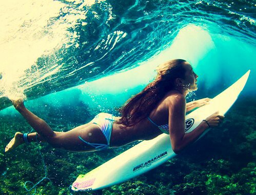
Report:
[{"label": "white surfboard with ERIC ARAKAWA printed along its side", "polygon": [[[225,91],[215,96],[209,105],[200,107],[186,116],[186,133],[193,131],[203,119],[219,111],[225,114],[243,90],[250,70]],[[204,132],[205,134],[206,132]],[[201,138],[202,134],[199,138]],[[91,172],[80,175],[70,186],[71,191],[92,191],[106,188],[134,178],[174,157],[170,137],[161,134],[145,140],[112,158]]]}]

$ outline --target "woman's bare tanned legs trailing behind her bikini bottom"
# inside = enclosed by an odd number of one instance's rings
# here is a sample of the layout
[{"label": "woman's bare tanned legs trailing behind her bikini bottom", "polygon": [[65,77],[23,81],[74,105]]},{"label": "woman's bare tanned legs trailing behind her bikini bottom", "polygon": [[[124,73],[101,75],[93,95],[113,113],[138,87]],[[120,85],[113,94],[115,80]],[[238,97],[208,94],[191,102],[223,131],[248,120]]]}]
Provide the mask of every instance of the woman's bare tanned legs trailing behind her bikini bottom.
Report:
[{"label": "woman's bare tanned legs trailing behind her bikini bottom", "polygon": [[[91,142],[106,142],[106,138],[100,128],[95,124],[88,123],[68,132],[55,132],[43,119],[30,112],[24,106],[22,100],[12,101],[12,103],[16,110],[24,116],[29,125],[38,133],[38,141],[46,141],[54,148],[63,148],[70,151],[94,151],[90,145],[86,145],[78,136]],[[19,140],[21,140],[21,134],[19,134]],[[35,141],[35,133],[28,134],[28,140]]]}]

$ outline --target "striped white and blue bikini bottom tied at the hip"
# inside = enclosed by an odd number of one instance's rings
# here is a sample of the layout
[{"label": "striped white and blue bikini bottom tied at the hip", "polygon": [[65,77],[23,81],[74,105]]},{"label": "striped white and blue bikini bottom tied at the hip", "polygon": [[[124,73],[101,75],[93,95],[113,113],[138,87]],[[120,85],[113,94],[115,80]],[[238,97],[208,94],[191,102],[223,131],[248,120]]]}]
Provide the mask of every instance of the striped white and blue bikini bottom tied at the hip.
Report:
[{"label": "striped white and blue bikini bottom tied at the hip", "polygon": [[112,114],[101,112],[101,113],[97,114],[92,119],[92,123],[99,126],[100,129],[102,130],[102,133],[106,137],[108,144],[89,143],[89,142],[85,141],[81,136],[78,136],[78,138],[80,140],[82,140],[83,142],[85,142],[86,144],[91,145],[96,150],[106,150],[106,149],[108,149],[110,147],[110,136],[111,136],[111,132],[112,132],[113,123],[115,121],[114,118],[115,117]]}]

